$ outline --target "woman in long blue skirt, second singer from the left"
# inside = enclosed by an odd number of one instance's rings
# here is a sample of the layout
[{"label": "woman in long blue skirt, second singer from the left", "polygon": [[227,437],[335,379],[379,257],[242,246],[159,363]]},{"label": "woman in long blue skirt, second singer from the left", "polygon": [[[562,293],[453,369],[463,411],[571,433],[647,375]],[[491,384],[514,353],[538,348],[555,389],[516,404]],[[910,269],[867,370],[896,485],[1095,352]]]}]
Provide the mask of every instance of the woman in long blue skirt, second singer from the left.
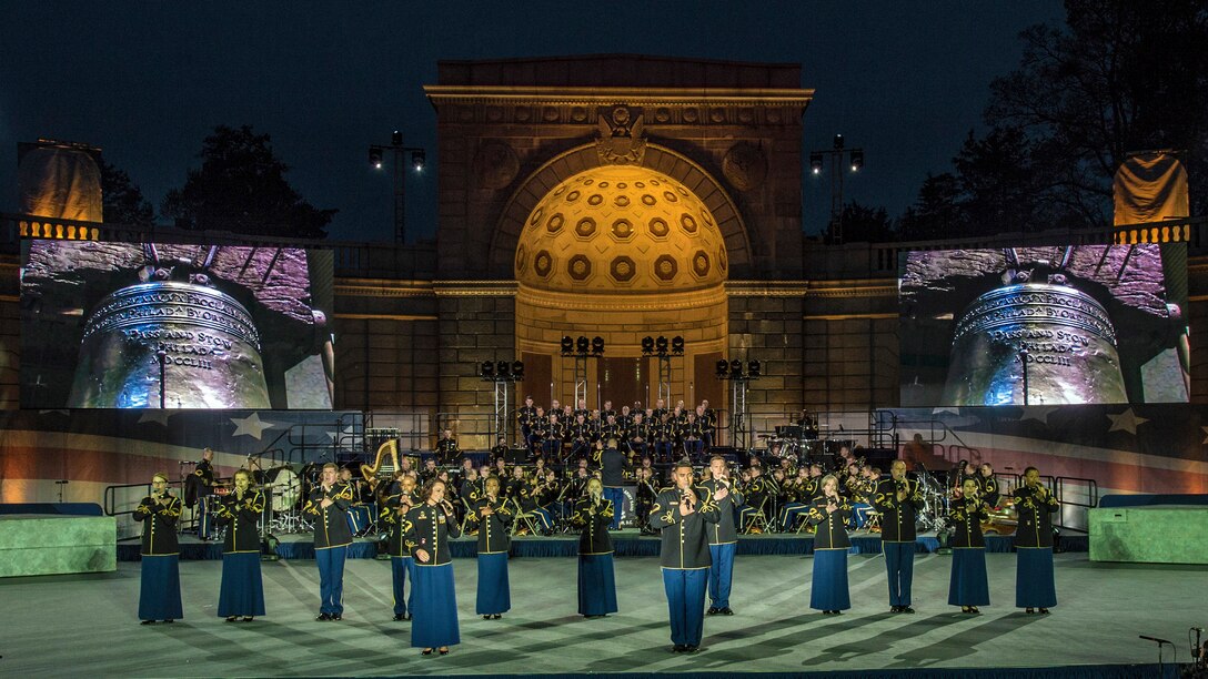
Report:
[{"label": "woman in long blue skirt, second singer from the left", "polygon": [[265,495],[251,488],[251,472],[234,472],[234,491],[221,498],[219,524],[226,526],[222,541],[222,585],[219,588],[219,617],[234,622],[240,616],[251,622],[265,615],[265,584],[260,575],[260,530]]}]

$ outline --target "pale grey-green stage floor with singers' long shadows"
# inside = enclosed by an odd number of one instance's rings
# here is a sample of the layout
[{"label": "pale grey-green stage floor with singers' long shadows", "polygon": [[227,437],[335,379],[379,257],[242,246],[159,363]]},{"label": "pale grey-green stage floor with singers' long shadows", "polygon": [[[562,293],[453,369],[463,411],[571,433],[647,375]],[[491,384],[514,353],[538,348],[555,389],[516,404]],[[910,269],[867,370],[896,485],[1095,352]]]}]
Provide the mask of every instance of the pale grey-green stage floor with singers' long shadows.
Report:
[{"label": "pale grey-green stage floor with singers' long shadows", "polygon": [[[513,558],[512,611],[474,615],[477,574],[454,561],[461,640],[448,656],[410,648],[410,622],[393,622],[390,565],[349,559],[344,620],[315,622],[313,561],[265,563],[268,615],[226,623],[215,615],[220,562],[181,563],[185,619],[140,626],[139,564],[117,573],[0,581],[8,622],[0,669],[11,677],[248,677],[554,674],[616,672],[800,673],[913,668],[1053,667],[1155,663],[1146,634],[1177,640],[1208,617],[1208,567],[1107,564],[1056,556],[1059,605],[1052,615],[1014,608],[1015,555],[987,555],[991,600],[981,616],[948,607],[951,557],[918,555],[914,615],[887,613],[884,561],[848,561],[854,608],[808,609],[812,557],[739,557],[732,617],[707,617],[703,651],[669,652],[658,562],[616,559],[621,611],[575,614],[575,559]],[[1169,650],[1167,650],[1169,661]],[[1151,672],[1151,671],[1150,671]],[[861,673],[863,674],[863,673]],[[1144,674],[1136,674],[1144,675]]]}]

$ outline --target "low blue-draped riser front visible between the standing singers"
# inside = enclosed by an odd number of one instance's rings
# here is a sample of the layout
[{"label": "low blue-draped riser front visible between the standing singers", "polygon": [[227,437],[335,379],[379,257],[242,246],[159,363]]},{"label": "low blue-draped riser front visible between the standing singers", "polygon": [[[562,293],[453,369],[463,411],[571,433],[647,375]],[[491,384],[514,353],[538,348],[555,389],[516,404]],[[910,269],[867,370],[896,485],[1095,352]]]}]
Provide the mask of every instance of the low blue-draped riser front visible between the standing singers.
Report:
[{"label": "low blue-draped riser front visible between the standing singers", "polygon": [[[280,545],[277,555],[283,559],[313,559],[314,541],[309,533],[279,535]],[[637,529],[627,528],[612,533],[612,547],[617,557],[657,557],[658,536],[640,535]],[[474,536],[464,536],[449,541],[454,558],[474,558],[478,556],[477,541]],[[940,549],[940,541],[934,533],[924,534],[914,542],[917,553],[933,553]],[[1085,552],[1087,539],[1085,533],[1069,532],[1062,535],[1061,551]],[[741,535],[738,555],[809,555],[814,551],[812,535],[795,533],[772,533],[765,535]],[[1014,552],[1010,535],[987,535],[987,552]],[[852,555],[879,555],[881,536],[875,533],[858,530],[852,534]],[[513,557],[574,557],[579,555],[579,536],[557,534],[548,538],[541,535],[522,535],[512,539]],[[377,547],[368,538],[358,539],[348,553],[349,558],[373,558]],[[124,540],[117,545],[118,561],[138,561],[139,541]],[[182,559],[221,559],[222,544],[203,542],[193,535],[180,536],[180,558]]]}]

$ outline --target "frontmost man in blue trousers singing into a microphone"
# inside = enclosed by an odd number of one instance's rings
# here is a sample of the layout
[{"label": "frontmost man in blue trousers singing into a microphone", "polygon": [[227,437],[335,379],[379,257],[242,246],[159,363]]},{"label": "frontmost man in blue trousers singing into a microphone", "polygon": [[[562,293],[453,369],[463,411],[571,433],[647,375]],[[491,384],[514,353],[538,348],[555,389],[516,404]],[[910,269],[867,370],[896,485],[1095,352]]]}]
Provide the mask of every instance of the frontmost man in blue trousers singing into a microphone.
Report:
[{"label": "frontmost man in blue trousers singing into a microphone", "polygon": [[[675,652],[696,652],[704,632],[704,592],[708,586],[708,532],[720,520],[715,500],[725,499],[692,486],[692,465],[681,460],[673,472],[675,486],[660,491],[650,512],[650,526],[662,532],[658,561],[670,613]],[[719,497],[720,495],[720,497]]]}]

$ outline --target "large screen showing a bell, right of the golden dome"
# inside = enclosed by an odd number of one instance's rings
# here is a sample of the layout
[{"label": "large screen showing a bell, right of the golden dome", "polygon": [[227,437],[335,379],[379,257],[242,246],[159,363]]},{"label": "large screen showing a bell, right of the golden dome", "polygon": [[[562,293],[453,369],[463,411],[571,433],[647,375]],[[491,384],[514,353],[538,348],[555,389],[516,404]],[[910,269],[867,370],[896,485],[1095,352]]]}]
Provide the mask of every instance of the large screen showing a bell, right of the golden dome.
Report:
[{"label": "large screen showing a bell, right of the golden dome", "polygon": [[904,407],[1185,402],[1186,248],[901,256]]}]

